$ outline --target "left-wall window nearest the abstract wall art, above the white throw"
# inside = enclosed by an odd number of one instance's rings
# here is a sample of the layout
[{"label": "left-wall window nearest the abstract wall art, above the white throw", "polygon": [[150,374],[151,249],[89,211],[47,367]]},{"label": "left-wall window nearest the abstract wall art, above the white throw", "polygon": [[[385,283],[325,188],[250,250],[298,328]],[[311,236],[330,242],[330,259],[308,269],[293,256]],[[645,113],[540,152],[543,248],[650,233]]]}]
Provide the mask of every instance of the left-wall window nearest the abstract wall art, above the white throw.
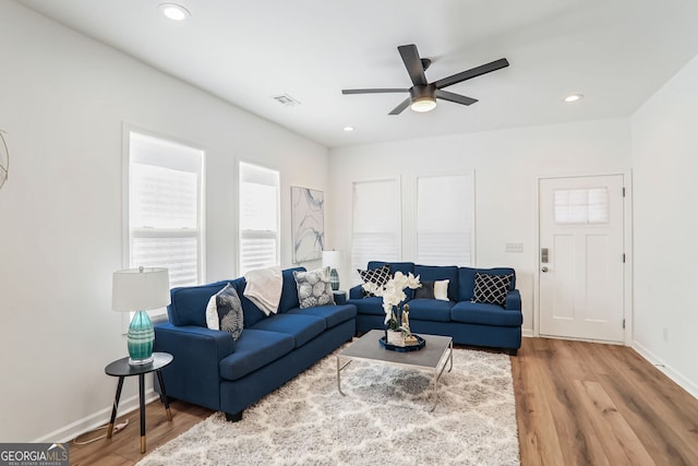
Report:
[{"label": "left-wall window nearest the abstract wall art, above the white throw", "polygon": [[240,274],[279,263],[279,172],[240,163]]}]

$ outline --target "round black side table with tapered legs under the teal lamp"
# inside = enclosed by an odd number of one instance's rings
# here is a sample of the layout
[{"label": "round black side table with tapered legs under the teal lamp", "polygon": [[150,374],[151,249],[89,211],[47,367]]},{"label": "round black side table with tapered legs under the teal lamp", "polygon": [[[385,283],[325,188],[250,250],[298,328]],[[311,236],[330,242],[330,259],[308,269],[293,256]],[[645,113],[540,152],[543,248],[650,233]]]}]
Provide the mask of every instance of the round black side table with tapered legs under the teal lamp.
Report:
[{"label": "round black side table with tapered legs under the teal lamp", "polygon": [[169,353],[154,353],[153,362],[143,366],[129,365],[129,358],[121,358],[111,362],[105,368],[107,375],[118,377],[119,384],[117,385],[117,396],[113,399],[113,407],[111,408],[111,420],[109,421],[109,429],[107,430],[107,439],[111,439],[113,433],[113,422],[117,419],[117,408],[119,407],[119,398],[121,397],[121,389],[123,387],[123,379],[131,375],[139,377],[139,392],[141,395],[141,453],[145,453],[145,374],[155,372],[157,380],[160,383],[160,401],[165,404],[167,410],[167,418],[172,420],[172,413],[170,411],[170,404],[165,393],[165,382],[163,381],[163,368],[172,362],[174,358]]}]

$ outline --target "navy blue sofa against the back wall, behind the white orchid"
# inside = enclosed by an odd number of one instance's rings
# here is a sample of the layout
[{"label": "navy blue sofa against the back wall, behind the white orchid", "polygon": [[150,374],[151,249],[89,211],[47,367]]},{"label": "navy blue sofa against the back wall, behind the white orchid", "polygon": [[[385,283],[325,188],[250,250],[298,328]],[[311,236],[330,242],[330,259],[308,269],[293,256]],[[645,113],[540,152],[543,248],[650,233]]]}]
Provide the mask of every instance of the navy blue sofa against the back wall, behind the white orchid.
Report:
[{"label": "navy blue sofa against the back wall, behind the white orchid", "polygon": [[[369,262],[369,270],[378,268],[386,262]],[[410,330],[416,333],[445,335],[462,345],[505,348],[516,356],[521,347],[521,295],[516,289],[514,268],[470,268],[457,266],[419,265],[412,262],[390,262],[390,272],[419,275],[421,282],[448,279],[448,301],[438,299],[413,299],[414,291],[407,289],[410,307]],[[506,296],[505,307],[470,302],[473,297],[476,273],[491,275],[514,274]],[[347,303],[357,307],[357,332],[385,328],[383,300],[363,297],[363,288],[349,290]]]}]

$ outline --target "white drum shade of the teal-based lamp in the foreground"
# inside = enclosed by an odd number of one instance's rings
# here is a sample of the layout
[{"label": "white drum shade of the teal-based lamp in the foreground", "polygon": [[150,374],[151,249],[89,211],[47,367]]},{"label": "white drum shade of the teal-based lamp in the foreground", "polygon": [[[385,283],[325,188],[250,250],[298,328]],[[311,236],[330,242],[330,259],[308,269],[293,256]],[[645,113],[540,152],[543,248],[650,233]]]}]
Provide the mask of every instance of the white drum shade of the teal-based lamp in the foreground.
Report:
[{"label": "white drum shade of the teal-based lamp in the foreground", "polygon": [[170,303],[167,268],[125,268],[113,273],[111,309],[118,312],[147,311]]}]

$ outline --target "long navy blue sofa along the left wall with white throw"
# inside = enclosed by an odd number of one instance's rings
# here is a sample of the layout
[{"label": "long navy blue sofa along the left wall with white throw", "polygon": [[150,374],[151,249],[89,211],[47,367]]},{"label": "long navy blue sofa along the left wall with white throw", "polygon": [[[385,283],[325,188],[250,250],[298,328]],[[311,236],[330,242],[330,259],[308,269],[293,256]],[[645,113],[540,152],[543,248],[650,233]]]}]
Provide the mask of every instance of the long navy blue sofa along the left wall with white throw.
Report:
[{"label": "long navy blue sofa along the left wall with white throw", "polygon": [[[266,316],[243,296],[244,278],[173,288],[169,322],[155,325],[155,351],[174,356],[163,370],[168,397],[242,419],[243,410],[313,366],[356,334],[352,304],[300,309],[293,271],[282,271],[281,300]],[[206,326],[209,298],[228,283],[242,302],[244,330],[237,343]],[[159,387],[156,386],[159,391]]]}]

